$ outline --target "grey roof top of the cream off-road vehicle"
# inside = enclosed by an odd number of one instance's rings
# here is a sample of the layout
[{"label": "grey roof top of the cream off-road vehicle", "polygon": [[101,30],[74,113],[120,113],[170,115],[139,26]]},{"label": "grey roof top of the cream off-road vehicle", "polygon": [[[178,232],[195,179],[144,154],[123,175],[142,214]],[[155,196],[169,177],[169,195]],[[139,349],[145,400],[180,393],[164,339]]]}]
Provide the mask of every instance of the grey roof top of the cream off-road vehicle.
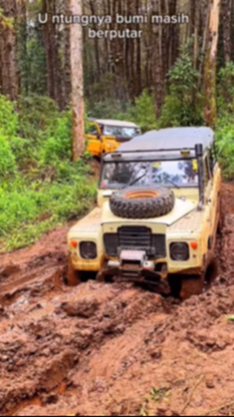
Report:
[{"label": "grey roof top of the cream off-road vehicle", "polygon": [[208,149],[214,143],[214,132],[209,127],[174,127],[161,130],[152,130],[144,135],[137,136],[129,142],[123,143],[118,152],[134,151],[168,151],[195,148],[202,144]]}]

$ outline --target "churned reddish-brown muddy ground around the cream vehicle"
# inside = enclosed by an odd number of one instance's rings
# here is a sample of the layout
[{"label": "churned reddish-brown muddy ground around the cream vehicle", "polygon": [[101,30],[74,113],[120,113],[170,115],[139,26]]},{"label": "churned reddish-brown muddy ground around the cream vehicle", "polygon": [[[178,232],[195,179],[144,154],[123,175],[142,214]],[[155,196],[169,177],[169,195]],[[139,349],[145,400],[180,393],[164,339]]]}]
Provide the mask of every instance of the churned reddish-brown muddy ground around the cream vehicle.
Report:
[{"label": "churned reddish-brown muddy ground around the cream vehicle", "polygon": [[234,415],[234,185],[223,201],[219,278],[183,303],[68,288],[66,228],[0,256],[0,414]]}]

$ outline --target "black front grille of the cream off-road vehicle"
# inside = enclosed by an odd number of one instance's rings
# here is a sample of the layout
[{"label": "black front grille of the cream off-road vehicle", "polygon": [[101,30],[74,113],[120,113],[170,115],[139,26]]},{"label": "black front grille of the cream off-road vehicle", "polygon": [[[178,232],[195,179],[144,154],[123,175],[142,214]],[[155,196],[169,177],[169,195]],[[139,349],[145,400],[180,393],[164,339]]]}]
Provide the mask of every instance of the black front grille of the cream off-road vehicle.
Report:
[{"label": "black front grille of the cream off-road vehicle", "polygon": [[120,227],[117,234],[104,235],[104,244],[108,256],[117,256],[121,249],[136,249],[145,250],[148,257],[166,257],[165,235],[153,235],[148,227]]}]

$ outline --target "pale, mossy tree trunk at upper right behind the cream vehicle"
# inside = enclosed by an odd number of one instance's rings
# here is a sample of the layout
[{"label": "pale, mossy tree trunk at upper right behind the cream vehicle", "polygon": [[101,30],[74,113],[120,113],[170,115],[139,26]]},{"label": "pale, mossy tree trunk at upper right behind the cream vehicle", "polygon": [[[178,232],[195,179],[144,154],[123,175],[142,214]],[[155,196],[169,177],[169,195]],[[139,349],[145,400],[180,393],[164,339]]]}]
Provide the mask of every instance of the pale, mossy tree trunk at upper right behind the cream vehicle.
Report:
[{"label": "pale, mossy tree trunk at upper right behind the cream vehicle", "polygon": [[217,118],[216,107],[216,60],[218,45],[218,29],[220,16],[220,0],[210,0],[209,40],[205,63],[205,119],[208,126],[214,127]]}]

